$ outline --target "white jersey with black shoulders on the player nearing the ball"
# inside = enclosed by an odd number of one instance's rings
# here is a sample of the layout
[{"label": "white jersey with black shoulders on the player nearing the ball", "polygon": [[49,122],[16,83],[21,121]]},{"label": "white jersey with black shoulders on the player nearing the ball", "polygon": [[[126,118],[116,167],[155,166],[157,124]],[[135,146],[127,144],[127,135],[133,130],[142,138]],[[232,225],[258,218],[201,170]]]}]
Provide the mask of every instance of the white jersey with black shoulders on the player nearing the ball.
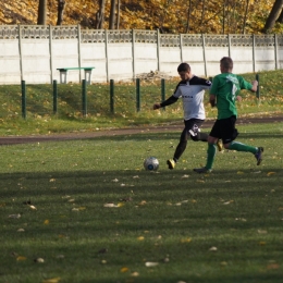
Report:
[{"label": "white jersey with black shoulders on the player nearing the ball", "polygon": [[212,86],[210,81],[193,76],[188,81],[182,81],[177,84],[173,97],[183,99],[184,120],[206,119],[204,106],[205,90]]}]

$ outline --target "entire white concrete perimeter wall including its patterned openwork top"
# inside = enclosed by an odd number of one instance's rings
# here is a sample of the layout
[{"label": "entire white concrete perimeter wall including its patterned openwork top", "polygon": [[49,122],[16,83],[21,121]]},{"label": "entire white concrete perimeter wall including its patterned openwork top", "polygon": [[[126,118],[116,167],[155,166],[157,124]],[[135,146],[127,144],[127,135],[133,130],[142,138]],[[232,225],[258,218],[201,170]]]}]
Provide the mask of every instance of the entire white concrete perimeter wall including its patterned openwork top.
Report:
[{"label": "entire white concrete perimeter wall including its patterned openwork top", "polygon": [[[81,29],[81,26],[0,25],[0,84],[60,82],[60,67],[94,66],[91,83],[133,79],[160,71],[176,76],[181,62],[214,76],[230,56],[235,73],[283,66],[283,35],[160,34],[142,29]],[[79,83],[84,71],[69,71]]]}]

